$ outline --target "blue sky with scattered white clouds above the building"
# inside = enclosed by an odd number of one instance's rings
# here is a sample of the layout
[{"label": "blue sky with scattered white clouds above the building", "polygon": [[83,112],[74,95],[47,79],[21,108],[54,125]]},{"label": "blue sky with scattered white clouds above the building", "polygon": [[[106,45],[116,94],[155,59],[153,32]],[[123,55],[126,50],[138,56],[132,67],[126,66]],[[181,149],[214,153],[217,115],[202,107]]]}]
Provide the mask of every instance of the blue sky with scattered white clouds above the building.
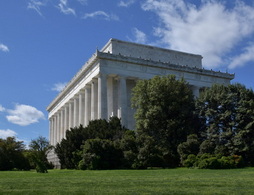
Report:
[{"label": "blue sky with scattered white clouds above the building", "polygon": [[203,56],[254,89],[254,0],[0,0],[0,137],[48,137],[46,107],[110,38]]}]

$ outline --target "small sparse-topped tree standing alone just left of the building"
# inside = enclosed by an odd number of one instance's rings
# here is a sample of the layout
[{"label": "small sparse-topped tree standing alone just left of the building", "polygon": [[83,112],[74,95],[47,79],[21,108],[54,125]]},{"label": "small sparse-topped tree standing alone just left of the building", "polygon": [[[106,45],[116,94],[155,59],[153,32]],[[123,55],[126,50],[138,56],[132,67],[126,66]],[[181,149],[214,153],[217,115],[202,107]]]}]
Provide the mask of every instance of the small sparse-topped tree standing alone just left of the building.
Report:
[{"label": "small sparse-topped tree standing alone just left of the building", "polygon": [[34,164],[36,171],[47,173],[50,164],[47,160],[47,154],[53,148],[45,137],[39,136],[37,139],[31,140],[29,144],[30,158]]}]

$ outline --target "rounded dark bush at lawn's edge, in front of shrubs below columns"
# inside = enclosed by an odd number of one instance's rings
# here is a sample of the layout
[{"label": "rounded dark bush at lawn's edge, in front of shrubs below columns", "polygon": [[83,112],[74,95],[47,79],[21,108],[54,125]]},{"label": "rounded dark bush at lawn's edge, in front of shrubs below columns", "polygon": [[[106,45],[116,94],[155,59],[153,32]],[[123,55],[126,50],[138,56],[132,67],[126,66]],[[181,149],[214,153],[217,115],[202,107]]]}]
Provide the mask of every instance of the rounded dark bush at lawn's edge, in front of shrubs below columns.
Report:
[{"label": "rounded dark bush at lawn's edge, in front of shrubs below columns", "polygon": [[80,169],[119,169],[122,166],[123,152],[111,140],[89,139],[83,145],[82,157]]}]

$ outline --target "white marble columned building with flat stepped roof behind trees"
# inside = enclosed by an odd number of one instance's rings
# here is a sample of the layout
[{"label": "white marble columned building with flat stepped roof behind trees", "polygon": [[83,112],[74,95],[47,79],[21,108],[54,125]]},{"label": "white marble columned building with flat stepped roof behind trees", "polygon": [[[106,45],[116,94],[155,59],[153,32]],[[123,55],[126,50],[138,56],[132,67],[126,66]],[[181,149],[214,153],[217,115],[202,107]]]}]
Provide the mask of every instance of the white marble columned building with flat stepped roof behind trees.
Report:
[{"label": "white marble columned building with flat stepped roof behind trees", "polygon": [[[202,68],[202,56],[111,39],[83,65],[47,107],[50,144],[56,145],[65,131],[90,120],[118,116],[134,129],[131,90],[139,79],[173,74],[184,78],[195,96],[202,87],[229,84],[234,75]],[[58,164],[51,153],[49,160]]]}]

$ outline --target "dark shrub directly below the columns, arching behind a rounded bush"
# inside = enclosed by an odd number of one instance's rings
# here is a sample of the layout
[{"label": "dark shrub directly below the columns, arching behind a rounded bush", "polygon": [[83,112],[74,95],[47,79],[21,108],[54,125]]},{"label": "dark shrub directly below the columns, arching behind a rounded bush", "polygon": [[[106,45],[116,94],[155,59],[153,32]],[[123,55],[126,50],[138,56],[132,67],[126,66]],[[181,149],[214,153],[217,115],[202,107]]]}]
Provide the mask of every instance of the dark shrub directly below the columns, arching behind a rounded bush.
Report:
[{"label": "dark shrub directly below the columns, arching behind a rounded bush", "polygon": [[77,169],[82,167],[83,159],[81,146],[89,139],[107,139],[116,141],[120,139],[126,129],[122,127],[120,119],[111,117],[109,121],[104,119],[90,121],[87,127],[80,125],[67,130],[66,139],[56,145],[55,151],[60,159],[62,168]]}]

